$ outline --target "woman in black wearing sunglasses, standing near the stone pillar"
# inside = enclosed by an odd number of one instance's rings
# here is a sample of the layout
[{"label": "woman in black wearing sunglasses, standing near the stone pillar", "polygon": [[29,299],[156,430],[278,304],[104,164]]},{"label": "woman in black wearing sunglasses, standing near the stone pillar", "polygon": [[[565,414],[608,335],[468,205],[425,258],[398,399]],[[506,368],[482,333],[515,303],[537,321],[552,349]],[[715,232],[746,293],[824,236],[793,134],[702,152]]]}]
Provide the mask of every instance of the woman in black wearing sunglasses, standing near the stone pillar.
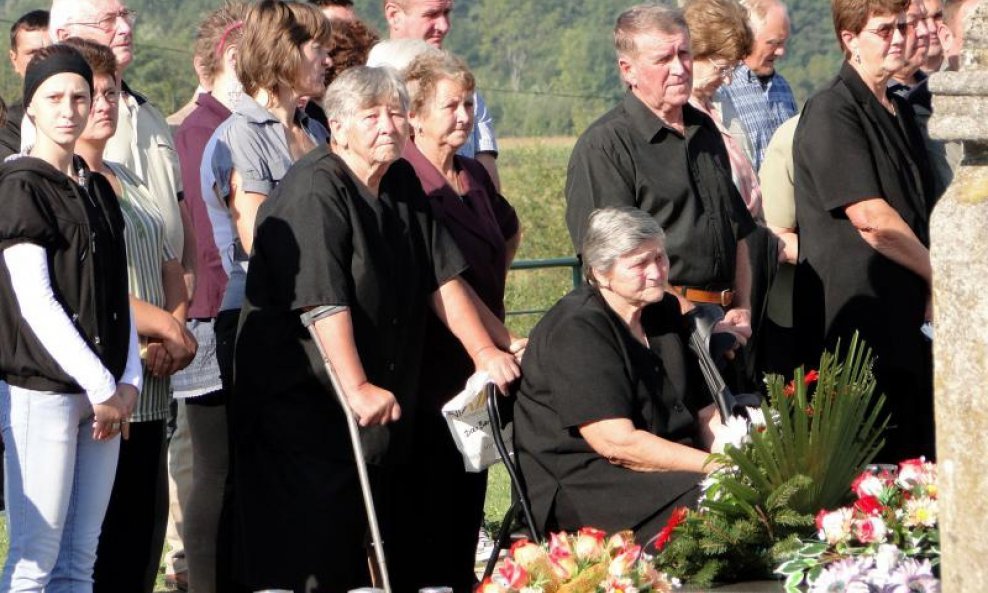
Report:
[{"label": "woman in black wearing sunglasses, standing near the stone pillar", "polygon": [[876,356],[891,415],[878,461],[934,453],[931,175],[909,104],[886,83],[903,66],[907,0],[833,0],[844,52],[806,103],[793,142],[799,259],[794,324],[803,361],[855,331]]}]

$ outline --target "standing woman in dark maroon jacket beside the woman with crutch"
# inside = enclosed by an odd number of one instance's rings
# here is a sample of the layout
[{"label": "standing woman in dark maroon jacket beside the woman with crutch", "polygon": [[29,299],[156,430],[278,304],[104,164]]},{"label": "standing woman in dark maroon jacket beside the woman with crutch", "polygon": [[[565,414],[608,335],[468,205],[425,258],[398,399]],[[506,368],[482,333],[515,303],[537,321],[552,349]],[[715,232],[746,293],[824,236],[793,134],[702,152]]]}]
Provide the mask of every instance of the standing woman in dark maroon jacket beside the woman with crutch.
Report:
[{"label": "standing woman in dark maroon jacket beside the woman with crutch", "polygon": [[[475,293],[478,311],[499,331],[508,265],[521,233],[514,208],[498,193],[483,165],[456,154],[473,130],[473,75],[462,60],[436,51],[415,58],[405,69],[405,82],[414,141],[405,145],[403,156],[469,265],[463,280]],[[474,365],[435,315],[429,315],[426,324],[425,351],[412,453],[424,463],[407,468],[409,480],[437,487],[414,489],[403,497],[407,510],[400,513],[398,536],[408,538],[409,552],[391,563],[407,564],[412,576],[403,583],[407,590],[447,585],[469,593],[476,584],[475,550],[484,519],[487,472],[464,469],[441,409],[463,389]]]}]

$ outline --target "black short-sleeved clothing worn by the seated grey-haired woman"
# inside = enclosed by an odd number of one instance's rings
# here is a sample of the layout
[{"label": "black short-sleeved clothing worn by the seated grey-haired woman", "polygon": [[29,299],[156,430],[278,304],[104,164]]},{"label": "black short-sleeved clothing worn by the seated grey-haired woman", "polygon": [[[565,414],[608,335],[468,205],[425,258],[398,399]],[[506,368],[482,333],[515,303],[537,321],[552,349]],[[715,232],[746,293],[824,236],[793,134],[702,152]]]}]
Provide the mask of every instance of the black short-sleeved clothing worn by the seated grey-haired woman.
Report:
[{"label": "black short-sleeved clothing worn by the seated grey-haired woman", "polygon": [[598,454],[581,425],[627,418],[635,428],[694,445],[710,403],[672,296],[642,313],[646,348],[588,284],[532,331],[515,405],[515,445],[542,530],[632,528],[694,487],[691,472],[638,472]]}]

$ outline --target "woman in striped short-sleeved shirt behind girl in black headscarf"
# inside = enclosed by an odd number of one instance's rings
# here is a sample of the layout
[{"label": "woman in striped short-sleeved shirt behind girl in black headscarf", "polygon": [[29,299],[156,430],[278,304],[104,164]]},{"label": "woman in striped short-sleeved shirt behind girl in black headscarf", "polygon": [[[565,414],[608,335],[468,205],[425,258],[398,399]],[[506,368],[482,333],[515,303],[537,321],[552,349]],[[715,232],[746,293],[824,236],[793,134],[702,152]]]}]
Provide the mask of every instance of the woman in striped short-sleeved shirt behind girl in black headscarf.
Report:
[{"label": "woman in striped short-sleeved shirt behind girl in black headscarf", "polygon": [[131,438],[120,448],[93,575],[97,590],[140,591],[148,567],[156,567],[161,557],[154,504],[164,471],[171,376],[189,364],[197,344],[185,329],[182,264],[165,236],[157,203],[133,172],[103,158],[117,129],[116,58],[110,48],[92,41],[70,37],[62,43],[77,49],[93,71],[93,107],[76,153],[110,183],[123,213],[128,289],[144,369],[144,389],[130,418]]}]

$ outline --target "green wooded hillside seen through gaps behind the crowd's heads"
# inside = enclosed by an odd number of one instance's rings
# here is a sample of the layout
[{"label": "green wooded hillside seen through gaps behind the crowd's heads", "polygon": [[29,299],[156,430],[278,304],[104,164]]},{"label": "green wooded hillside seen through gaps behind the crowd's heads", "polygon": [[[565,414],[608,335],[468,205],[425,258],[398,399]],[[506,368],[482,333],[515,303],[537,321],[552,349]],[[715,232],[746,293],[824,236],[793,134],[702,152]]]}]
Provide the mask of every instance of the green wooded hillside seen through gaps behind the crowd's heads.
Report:
[{"label": "green wooded hillside seen through gaps behind the crowd's heads", "polygon": [[[196,24],[223,0],[128,0],[139,13],[137,55],[127,74],[163,112],[195,89],[190,54]],[[379,0],[355,0],[384,30]],[[448,47],[474,69],[500,136],[579,134],[623,93],[611,49],[615,16],[635,0],[457,0]],[[50,2],[3,0],[5,27]],[[789,0],[792,37],[780,71],[800,101],[837,71],[840,59],[824,0]],[[13,102],[21,84],[7,60],[0,94]]]}]

